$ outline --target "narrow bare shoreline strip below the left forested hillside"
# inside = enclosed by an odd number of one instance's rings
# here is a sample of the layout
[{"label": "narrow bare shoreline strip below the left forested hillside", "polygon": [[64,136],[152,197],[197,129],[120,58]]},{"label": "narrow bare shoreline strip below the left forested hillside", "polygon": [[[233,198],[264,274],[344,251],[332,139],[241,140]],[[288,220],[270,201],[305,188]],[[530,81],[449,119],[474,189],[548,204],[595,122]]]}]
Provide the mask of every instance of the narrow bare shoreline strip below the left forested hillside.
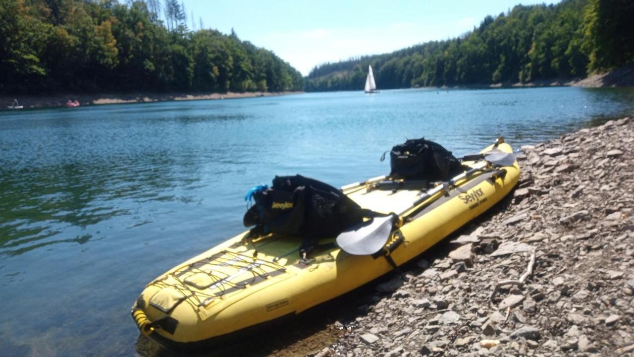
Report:
[{"label": "narrow bare shoreline strip below the left forested hillside", "polygon": [[254,97],[272,97],[278,95],[290,95],[304,93],[302,91],[254,91],[244,93],[199,93],[199,92],[171,92],[171,93],[95,93],[95,94],[56,94],[56,95],[0,95],[0,110],[8,110],[16,98],[20,105],[27,108],[63,107],[68,100],[77,100],[82,106],[103,104],[128,104],[128,103],[152,103],[169,102],[179,100],[210,100],[210,99],[236,99]]}]

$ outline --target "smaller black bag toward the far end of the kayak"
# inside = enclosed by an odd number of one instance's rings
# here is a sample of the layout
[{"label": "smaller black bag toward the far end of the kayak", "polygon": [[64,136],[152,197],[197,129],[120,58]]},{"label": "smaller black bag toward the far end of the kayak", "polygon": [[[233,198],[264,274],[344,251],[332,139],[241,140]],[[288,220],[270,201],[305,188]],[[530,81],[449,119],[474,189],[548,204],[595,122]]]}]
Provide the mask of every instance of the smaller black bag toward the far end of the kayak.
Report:
[{"label": "smaller black bag toward the far end of the kayak", "polygon": [[392,147],[392,179],[446,181],[464,171],[451,151],[425,138],[409,139]]}]

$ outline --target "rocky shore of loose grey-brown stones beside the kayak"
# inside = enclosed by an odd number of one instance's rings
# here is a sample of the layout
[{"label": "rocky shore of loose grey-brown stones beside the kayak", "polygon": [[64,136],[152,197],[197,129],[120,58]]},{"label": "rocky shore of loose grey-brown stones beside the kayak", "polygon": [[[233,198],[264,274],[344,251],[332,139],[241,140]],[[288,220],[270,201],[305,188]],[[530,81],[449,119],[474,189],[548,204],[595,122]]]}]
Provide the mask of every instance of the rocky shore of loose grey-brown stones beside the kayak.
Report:
[{"label": "rocky shore of loose grey-brown stones beside the kayak", "polygon": [[630,118],[522,147],[512,196],[375,286],[314,355],[633,353],[633,156]]}]

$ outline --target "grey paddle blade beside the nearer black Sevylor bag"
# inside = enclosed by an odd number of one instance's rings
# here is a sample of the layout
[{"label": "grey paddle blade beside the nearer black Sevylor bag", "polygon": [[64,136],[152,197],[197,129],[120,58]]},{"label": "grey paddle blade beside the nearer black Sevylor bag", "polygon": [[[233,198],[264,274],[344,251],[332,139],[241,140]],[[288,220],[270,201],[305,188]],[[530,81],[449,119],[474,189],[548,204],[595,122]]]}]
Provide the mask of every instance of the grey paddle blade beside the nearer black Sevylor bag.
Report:
[{"label": "grey paddle blade beside the nearer black Sevylor bag", "polygon": [[341,232],[337,236],[337,245],[352,255],[372,255],[387,243],[392,233],[394,220],[392,215],[375,217]]}]

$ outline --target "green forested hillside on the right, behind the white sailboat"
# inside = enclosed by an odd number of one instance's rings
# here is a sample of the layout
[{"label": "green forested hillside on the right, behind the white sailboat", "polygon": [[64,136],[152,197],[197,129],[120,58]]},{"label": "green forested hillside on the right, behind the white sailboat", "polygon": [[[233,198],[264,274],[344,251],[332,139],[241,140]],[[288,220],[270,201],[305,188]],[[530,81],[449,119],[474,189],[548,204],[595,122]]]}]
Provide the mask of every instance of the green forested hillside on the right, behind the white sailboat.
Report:
[{"label": "green forested hillside on the right, behind the white sailboat", "polygon": [[306,90],[361,90],[368,65],[380,89],[585,77],[634,60],[633,19],[632,0],[515,6],[456,39],[317,66]]}]

